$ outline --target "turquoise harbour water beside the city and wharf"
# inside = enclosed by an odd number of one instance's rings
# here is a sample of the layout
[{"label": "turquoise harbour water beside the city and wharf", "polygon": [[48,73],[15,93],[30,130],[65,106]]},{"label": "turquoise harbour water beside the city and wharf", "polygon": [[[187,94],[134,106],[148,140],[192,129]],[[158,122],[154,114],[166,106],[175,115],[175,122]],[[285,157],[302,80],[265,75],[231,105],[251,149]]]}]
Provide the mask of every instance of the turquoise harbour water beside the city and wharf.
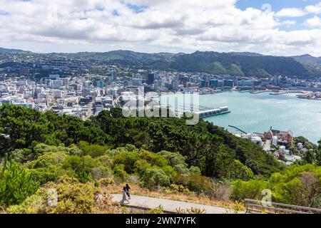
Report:
[{"label": "turquoise harbour water beside the city and wharf", "polygon": [[237,91],[200,95],[200,105],[208,108],[228,106],[231,113],[204,120],[235,133],[228,125],[247,133],[263,133],[272,126],[276,130],[292,130],[317,143],[321,138],[321,100],[305,100],[294,93],[239,93]]}]

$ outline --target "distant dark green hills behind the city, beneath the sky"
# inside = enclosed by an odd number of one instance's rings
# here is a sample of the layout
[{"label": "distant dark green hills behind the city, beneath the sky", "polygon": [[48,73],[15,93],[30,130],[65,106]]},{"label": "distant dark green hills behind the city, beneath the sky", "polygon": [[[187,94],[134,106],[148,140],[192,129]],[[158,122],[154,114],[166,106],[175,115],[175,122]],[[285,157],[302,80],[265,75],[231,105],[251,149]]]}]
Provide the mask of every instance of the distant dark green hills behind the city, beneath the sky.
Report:
[{"label": "distant dark green hills behind the city, beneath the sky", "polygon": [[[15,49],[0,48],[0,53],[23,53]],[[28,52],[31,53],[31,52]],[[231,74],[237,76],[268,77],[275,75],[299,78],[321,77],[321,57],[264,56],[259,53],[196,51],[194,53],[138,53],[134,51],[48,53],[40,55],[93,58],[111,61],[121,66],[185,72]]]}]

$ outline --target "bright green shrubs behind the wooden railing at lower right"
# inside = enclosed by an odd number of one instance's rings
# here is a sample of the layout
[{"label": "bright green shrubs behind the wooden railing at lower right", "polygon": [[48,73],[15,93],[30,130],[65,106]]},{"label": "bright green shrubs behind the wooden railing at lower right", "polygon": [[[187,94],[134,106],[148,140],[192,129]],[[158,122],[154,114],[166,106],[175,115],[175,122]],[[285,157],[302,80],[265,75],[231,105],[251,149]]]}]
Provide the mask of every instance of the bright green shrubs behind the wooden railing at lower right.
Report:
[{"label": "bright green shrubs behind the wooden railing at lower right", "polygon": [[237,180],[234,199],[262,199],[262,191],[272,191],[272,201],[306,207],[321,207],[321,167],[294,165],[276,172],[268,180]]}]

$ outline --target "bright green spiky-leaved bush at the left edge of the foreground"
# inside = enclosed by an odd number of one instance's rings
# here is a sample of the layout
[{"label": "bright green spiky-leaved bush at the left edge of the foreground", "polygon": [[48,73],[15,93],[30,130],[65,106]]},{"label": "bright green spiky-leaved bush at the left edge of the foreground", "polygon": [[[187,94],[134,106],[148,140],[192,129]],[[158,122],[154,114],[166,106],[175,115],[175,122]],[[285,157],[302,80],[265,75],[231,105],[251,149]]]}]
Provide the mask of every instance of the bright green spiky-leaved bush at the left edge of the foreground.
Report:
[{"label": "bright green spiky-leaved bush at the left edge of the foreground", "polygon": [[0,171],[0,204],[20,204],[34,194],[38,187],[39,183],[32,180],[24,168],[4,162]]}]

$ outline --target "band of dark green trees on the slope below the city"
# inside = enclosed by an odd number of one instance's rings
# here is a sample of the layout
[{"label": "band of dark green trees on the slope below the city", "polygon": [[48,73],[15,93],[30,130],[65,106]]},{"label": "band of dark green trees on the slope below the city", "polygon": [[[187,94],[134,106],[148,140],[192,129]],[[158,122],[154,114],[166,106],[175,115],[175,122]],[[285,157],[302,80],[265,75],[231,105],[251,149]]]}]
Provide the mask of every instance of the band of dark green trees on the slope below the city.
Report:
[{"label": "band of dark green trees on the slope below the city", "polygon": [[123,118],[121,109],[103,111],[87,121],[64,115],[3,105],[0,107],[0,150],[29,149],[46,145],[69,146],[86,141],[110,148],[126,144],[161,152],[179,152],[189,166],[199,167],[208,177],[225,177],[227,167],[239,160],[255,175],[268,175],[280,163],[249,140],[231,135],[210,123],[185,125],[179,118]]}]

